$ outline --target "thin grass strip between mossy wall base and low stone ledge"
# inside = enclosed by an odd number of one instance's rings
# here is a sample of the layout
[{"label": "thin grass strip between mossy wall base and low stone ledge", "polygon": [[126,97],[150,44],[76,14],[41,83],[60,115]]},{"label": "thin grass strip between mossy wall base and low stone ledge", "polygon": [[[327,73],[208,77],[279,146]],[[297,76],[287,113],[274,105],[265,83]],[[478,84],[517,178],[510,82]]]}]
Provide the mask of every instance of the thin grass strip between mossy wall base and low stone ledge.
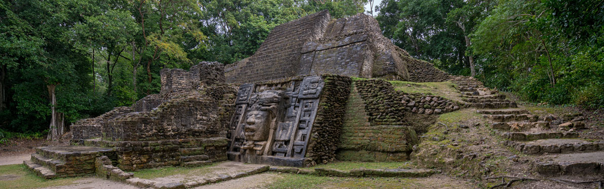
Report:
[{"label": "thin grass strip between mossy wall base and low stone ledge", "polygon": [[303,168],[314,170],[315,168],[333,168],[342,171],[350,171],[355,168],[411,168],[411,162],[360,162],[360,161],[340,161],[329,164],[320,164],[314,167]]}]

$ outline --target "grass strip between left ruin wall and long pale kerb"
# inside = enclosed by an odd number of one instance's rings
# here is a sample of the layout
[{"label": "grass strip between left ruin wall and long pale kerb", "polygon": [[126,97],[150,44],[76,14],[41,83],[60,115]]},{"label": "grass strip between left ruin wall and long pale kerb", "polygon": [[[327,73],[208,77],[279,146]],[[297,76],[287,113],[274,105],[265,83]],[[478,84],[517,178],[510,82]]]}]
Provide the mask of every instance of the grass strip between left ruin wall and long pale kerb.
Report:
[{"label": "grass strip between left ruin wall and long pale kerb", "polygon": [[[214,164],[212,164],[214,165]],[[220,168],[212,165],[203,165],[200,167],[161,167],[149,168],[146,170],[133,171],[134,176],[141,179],[155,179],[172,175],[205,175]]]}]

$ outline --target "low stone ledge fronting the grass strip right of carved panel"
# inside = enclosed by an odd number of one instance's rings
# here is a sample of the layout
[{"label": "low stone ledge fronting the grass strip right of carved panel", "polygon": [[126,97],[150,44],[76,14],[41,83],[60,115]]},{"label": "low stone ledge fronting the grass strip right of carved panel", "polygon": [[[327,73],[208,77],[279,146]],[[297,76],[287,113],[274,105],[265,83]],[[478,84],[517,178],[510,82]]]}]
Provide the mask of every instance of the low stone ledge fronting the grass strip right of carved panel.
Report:
[{"label": "low stone ledge fronting the grass strip right of carved panel", "polygon": [[404,178],[421,178],[428,177],[437,173],[437,170],[430,169],[405,169],[405,168],[357,168],[350,171],[342,171],[332,168],[315,168],[315,170],[299,169],[293,167],[271,167],[270,171],[280,173],[295,173],[302,175],[317,175],[317,176],[338,176],[338,177],[404,177]]}]

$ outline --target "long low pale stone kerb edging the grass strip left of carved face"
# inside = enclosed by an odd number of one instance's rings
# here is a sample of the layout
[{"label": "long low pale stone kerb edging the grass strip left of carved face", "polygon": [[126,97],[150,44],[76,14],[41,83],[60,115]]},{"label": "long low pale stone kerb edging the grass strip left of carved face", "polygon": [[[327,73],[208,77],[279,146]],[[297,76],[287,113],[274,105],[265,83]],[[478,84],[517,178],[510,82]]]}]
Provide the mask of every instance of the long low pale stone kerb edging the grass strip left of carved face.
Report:
[{"label": "long low pale stone kerb edging the grass strip left of carved face", "polygon": [[191,182],[187,182],[187,183],[181,183],[181,182],[160,183],[160,182],[151,181],[148,179],[140,179],[140,178],[126,179],[126,183],[137,186],[137,187],[141,187],[141,188],[158,188],[158,189],[194,188],[194,187],[199,187],[201,185],[214,184],[216,182],[228,181],[231,179],[238,179],[238,178],[243,178],[246,176],[256,175],[256,174],[263,173],[268,170],[269,170],[269,165],[265,165],[265,166],[255,168],[252,170],[233,173],[231,175],[217,175],[217,176],[214,176],[213,178],[201,179],[201,181],[191,181]]}]

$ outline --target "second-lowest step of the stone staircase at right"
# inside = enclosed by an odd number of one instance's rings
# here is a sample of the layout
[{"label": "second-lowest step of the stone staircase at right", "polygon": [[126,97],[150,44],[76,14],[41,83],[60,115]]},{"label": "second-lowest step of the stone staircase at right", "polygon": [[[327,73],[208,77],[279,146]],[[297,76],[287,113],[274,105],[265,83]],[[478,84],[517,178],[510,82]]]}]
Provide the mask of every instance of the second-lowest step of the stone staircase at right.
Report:
[{"label": "second-lowest step of the stone staircase at right", "polygon": [[582,139],[539,139],[526,143],[508,143],[508,146],[527,154],[582,153],[604,150],[604,142],[588,142]]}]

